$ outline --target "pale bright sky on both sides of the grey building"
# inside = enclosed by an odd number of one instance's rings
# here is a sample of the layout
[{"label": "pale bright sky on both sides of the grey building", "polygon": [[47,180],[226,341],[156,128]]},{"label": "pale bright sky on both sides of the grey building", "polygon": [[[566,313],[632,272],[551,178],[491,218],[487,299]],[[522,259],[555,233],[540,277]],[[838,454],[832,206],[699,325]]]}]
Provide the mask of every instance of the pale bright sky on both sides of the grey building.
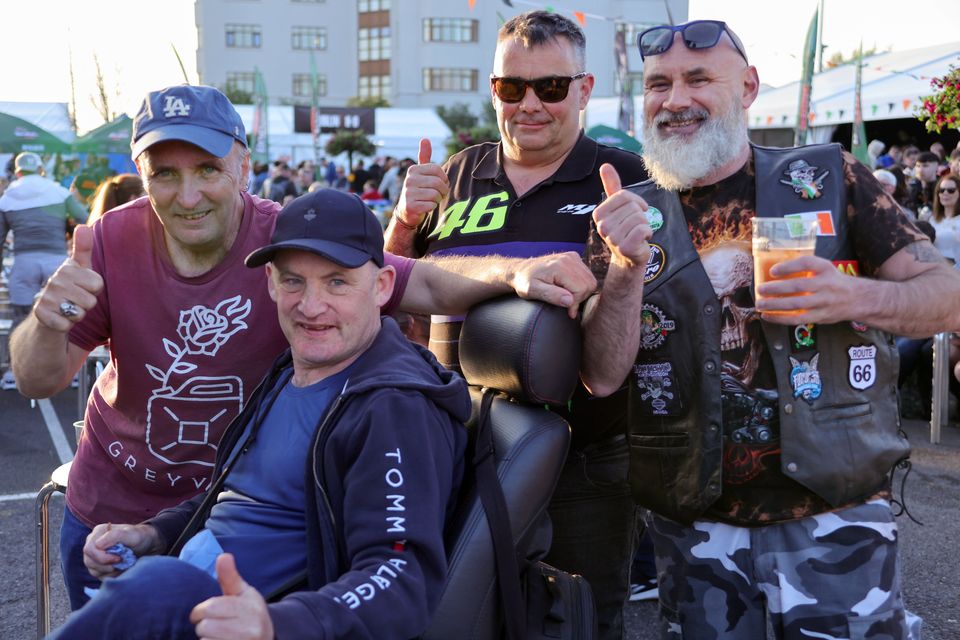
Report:
[{"label": "pale bright sky on both sides of the grey building", "polygon": [[[406,2],[416,0],[394,0],[394,6]],[[544,3],[568,14],[591,10],[590,0]],[[743,40],[761,82],[780,86],[800,75],[803,40],[816,7],[817,0],[689,0],[689,17],[726,21]],[[960,40],[960,0],[916,7],[904,0],[825,0],[825,7],[825,58],[837,51],[849,57],[861,38],[865,49],[879,50]],[[198,80],[194,0],[26,0],[7,8],[5,17],[0,100],[69,102],[72,57],[80,133],[102,123],[91,103],[94,55],[117,114],[133,116],[147,91],[183,82],[174,47],[189,80]]]}]

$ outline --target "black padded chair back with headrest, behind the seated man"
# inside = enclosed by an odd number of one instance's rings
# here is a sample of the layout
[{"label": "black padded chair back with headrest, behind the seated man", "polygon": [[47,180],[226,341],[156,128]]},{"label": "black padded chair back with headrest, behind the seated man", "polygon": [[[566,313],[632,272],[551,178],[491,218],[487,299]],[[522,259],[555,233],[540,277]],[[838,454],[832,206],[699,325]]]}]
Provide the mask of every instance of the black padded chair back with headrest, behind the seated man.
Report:
[{"label": "black padded chair back with headrest, behind the seated man", "polygon": [[[545,404],[573,394],[580,364],[580,329],[566,310],[515,297],[470,311],[460,333],[460,364],[471,385],[474,415],[467,424],[473,459],[483,388],[501,393],[490,407],[497,476],[503,488],[517,557],[535,560],[550,545],[547,504],[563,468],[570,427]],[[502,614],[490,529],[468,464],[451,527],[447,584],[428,640],[495,640]]]}]

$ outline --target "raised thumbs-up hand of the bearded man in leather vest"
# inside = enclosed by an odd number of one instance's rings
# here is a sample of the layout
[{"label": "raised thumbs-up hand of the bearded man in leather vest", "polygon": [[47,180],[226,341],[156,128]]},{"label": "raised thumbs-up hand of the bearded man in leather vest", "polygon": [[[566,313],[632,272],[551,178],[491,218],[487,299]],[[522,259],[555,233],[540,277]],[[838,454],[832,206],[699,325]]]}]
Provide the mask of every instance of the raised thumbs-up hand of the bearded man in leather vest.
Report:
[{"label": "raised thumbs-up hand of the bearded man in leather vest", "polygon": [[653,235],[644,213],[647,203],[621,188],[620,175],[613,165],[600,167],[600,180],[607,197],[593,210],[593,220],[600,237],[610,247],[611,261],[643,269],[650,258],[647,241]]}]

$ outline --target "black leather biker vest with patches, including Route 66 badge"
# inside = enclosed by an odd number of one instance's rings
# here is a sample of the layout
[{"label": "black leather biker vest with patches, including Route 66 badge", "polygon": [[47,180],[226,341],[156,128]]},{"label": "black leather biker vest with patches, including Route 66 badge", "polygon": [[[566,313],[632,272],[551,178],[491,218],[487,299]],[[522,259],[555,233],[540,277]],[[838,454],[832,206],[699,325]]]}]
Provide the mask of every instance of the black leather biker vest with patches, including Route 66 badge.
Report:
[{"label": "black leather biker vest with patches, including Route 66 badge", "polygon": [[[857,275],[840,146],[752,151],[756,215],[817,216],[816,254]],[[630,484],[638,504],[689,524],[722,489],[721,336],[743,319],[744,301],[715,294],[676,192],[652,181],[629,189],[659,210],[648,211],[655,231],[629,380]],[[777,380],[767,410],[779,413],[783,473],[833,506],[873,495],[910,451],[899,430],[891,337],[857,322],[761,322]]]}]

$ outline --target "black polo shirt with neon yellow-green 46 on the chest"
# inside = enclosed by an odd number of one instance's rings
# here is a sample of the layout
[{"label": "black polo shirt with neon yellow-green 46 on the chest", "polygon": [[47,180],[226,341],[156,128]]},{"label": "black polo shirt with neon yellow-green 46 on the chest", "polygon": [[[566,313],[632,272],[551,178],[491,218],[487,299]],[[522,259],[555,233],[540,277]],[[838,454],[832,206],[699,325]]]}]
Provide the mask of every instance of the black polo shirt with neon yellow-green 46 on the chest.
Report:
[{"label": "black polo shirt with neon yellow-green 46 on the chest", "polygon": [[[414,247],[420,255],[528,258],[559,251],[582,255],[591,214],[603,199],[600,165],[604,163],[616,168],[624,185],[647,177],[640,156],[598,144],[581,132],[557,171],[518,197],[503,169],[500,143],[464,149],[444,165],[450,195],[443,207],[421,223]],[[434,316],[430,329],[431,350],[441,363],[457,370],[459,320]],[[626,401],[621,393],[601,401],[581,388],[573,411],[575,447],[625,428]]]}]

